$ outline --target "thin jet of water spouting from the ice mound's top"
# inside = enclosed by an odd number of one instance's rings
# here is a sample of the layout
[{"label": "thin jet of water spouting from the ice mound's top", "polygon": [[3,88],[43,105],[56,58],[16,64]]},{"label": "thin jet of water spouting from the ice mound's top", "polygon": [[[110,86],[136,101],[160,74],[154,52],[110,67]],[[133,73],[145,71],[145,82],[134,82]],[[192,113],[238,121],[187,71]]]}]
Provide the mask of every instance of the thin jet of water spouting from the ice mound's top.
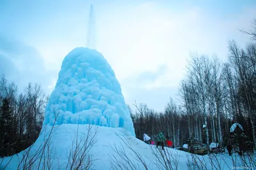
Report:
[{"label": "thin jet of water spouting from the ice mound's top", "polygon": [[92,4],[90,8],[90,16],[89,16],[89,22],[88,22],[87,47],[95,49],[95,20],[94,20]]}]

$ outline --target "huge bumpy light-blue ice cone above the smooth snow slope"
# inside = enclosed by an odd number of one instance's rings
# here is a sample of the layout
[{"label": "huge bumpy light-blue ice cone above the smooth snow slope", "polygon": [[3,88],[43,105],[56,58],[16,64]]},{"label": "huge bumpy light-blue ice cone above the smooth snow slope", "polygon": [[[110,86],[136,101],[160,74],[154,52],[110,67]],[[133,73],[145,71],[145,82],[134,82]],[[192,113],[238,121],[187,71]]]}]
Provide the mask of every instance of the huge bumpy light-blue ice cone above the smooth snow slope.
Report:
[{"label": "huge bumpy light-blue ice cone above the smooth snow slope", "polygon": [[53,125],[54,120],[55,125],[123,127],[135,136],[113,69],[99,52],[89,48],[75,48],[62,62],[45,108],[44,125]]}]

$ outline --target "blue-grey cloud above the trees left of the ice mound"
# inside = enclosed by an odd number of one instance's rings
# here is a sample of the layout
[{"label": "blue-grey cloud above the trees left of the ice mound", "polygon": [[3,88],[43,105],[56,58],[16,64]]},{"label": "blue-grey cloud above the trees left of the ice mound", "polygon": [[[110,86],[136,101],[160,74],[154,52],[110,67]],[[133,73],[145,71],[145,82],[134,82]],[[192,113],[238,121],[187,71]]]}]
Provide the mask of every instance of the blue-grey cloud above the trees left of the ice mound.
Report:
[{"label": "blue-grey cloud above the trees left of the ice mound", "polygon": [[0,34],[0,61],[0,76],[13,81],[20,92],[29,82],[40,83],[44,92],[51,92],[48,85],[54,71],[45,69],[44,59],[32,46]]}]

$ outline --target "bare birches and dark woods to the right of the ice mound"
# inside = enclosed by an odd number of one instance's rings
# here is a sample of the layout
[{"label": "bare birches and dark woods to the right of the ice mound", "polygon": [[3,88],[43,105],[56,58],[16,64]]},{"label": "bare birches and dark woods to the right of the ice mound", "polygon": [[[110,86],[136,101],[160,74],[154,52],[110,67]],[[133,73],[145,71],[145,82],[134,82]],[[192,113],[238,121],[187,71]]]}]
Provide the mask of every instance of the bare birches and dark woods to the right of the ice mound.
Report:
[{"label": "bare birches and dark woods to the right of the ice mound", "polygon": [[192,54],[187,73],[180,82],[180,103],[172,98],[163,112],[150,110],[147,104],[134,104],[131,113],[136,137],[154,136],[163,131],[175,146],[196,139],[209,146],[227,146],[230,127],[235,122],[256,148],[256,20],[244,48],[232,40],[228,44],[228,62],[218,57]]}]

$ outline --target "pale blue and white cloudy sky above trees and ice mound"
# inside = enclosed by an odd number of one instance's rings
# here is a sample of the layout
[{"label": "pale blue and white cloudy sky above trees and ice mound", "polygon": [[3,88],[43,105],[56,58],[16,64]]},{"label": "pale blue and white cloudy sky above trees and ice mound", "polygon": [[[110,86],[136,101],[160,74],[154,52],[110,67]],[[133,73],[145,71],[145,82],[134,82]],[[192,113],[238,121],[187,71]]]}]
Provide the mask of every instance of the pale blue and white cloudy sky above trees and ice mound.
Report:
[{"label": "pale blue and white cloudy sky above trees and ice mound", "polygon": [[177,99],[190,52],[227,60],[229,39],[244,46],[256,1],[0,1],[0,74],[20,88],[54,88],[63,58],[86,45],[90,4],[96,49],[120,81],[128,104],[163,110]]}]

